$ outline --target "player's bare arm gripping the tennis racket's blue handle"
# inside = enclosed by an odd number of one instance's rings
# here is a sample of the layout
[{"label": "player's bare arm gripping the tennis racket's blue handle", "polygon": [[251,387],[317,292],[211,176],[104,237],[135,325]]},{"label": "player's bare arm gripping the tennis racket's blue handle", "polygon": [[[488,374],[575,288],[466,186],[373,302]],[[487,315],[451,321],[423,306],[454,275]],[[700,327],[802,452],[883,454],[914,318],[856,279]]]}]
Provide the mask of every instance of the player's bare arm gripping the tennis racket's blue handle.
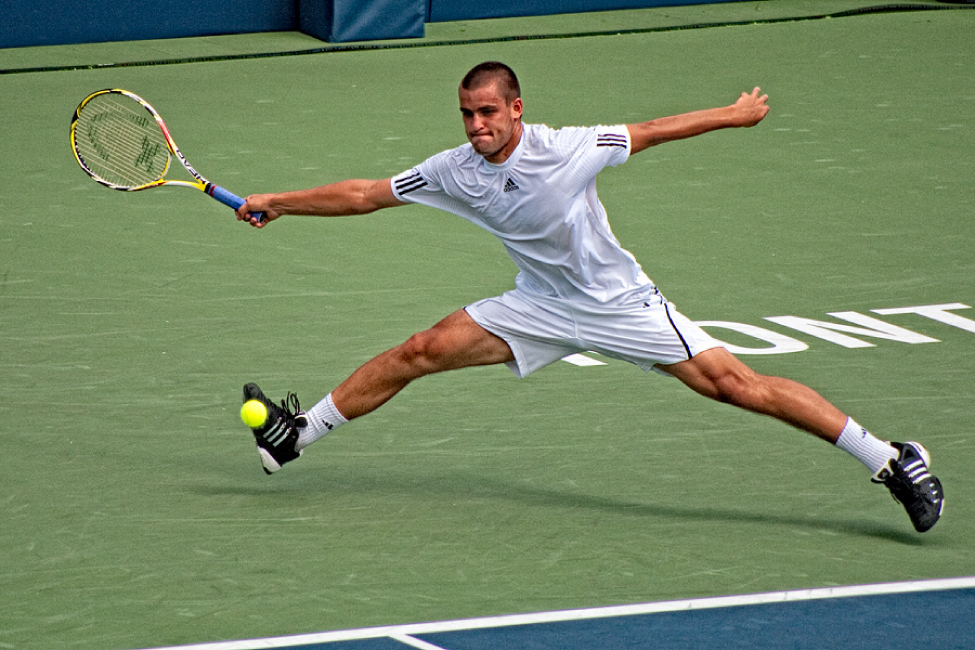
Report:
[{"label": "player's bare arm gripping the tennis racket's blue handle", "polygon": [[[263,228],[285,214],[341,217],[368,214],[397,205],[404,203],[393,196],[390,179],[349,180],[296,192],[252,194],[237,210],[237,220]],[[264,220],[258,222],[248,216],[254,212],[265,213]]]}]

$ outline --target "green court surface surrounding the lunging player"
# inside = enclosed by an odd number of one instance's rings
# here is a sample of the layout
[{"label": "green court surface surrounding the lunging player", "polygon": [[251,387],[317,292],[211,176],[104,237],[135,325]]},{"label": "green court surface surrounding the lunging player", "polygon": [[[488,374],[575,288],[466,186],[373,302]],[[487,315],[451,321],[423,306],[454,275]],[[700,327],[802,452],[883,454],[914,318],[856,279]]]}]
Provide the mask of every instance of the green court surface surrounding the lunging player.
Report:
[{"label": "green court surface surrounding the lunging player", "polygon": [[[975,332],[909,309],[975,320],[973,27],[972,11],[895,12],[0,76],[0,647],[975,575]],[[237,416],[245,382],[310,406],[510,288],[513,266],[422,208],[258,232],[198,192],[112,192],[71,158],[74,107],[105,87],[144,96],[197,169],[246,195],[385,177],[463,142],[457,82],[495,58],[519,73],[526,119],[552,126],[769,93],[759,127],[651,149],[604,172],[600,197],[681,311],[807,346],[745,357],[757,370],[922,441],[947,493],[934,530],[915,534],[845,454],[595,357],[426,379],[264,475]],[[829,315],[850,312],[930,340],[841,331],[872,344],[846,347],[766,320],[863,327]]]}]

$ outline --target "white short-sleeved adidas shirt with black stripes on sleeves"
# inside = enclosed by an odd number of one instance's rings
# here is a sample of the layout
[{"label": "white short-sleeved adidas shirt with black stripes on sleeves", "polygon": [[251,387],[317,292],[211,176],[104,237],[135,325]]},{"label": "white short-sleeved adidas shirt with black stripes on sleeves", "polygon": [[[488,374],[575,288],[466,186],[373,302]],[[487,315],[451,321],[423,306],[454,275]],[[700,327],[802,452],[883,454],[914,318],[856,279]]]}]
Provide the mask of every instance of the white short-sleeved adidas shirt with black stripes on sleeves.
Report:
[{"label": "white short-sleeved adidas shirt with black stripes on sleeves", "polygon": [[596,196],[596,174],[629,155],[625,125],[525,124],[500,165],[468,143],[395,176],[392,188],[401,201],[451,212],[500,239],[520,271],[520,291],[622,304],[656,291]]}]

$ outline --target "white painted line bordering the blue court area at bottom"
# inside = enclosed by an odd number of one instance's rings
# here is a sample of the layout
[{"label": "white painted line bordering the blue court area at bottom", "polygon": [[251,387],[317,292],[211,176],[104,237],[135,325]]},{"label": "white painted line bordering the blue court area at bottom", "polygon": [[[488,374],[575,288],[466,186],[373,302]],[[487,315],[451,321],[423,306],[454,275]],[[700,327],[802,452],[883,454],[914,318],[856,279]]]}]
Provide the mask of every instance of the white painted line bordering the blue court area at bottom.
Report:
[{"label": "white painted line bordering the blue court area at bottom", "polygon": [[975,577],[919,580],[914,582],[890,582],[876,585],[855,585],[847,587],[822,587],[819,589],[798,589],[794,591],[777,591],[772,593],[750,594],[744,596],[718,596],[714,598],[671,600],[659,603],[643,603],[639,605],[616,605],[611,607],[596,607],[592,609],[540,612],[537,614],[512,614],[508,616],[492,616],[457,621],[442,621],[439,623],[411,623],[408,625],[363,628],[361,630],[339,630],[336,632],[320,632],[316,634],[298,634],[294,636],[276,637],[270,639],[255,639],[252,641],[224,641],[216,643],[203,643],[198,645],[173,646],[168,648],[155,648],[154,650],[264,650],[266,648],[286,648],[298,645],[310,645],[314,643],[358,641],[362,639],[377,639],[382,637],[393,638],[421,650],[443,650],[442,648],[438,648],[437,646],[412,637],[413,635],[417,634],[458,632],[464,630],[487,629],[492,627],[508,627],[512,625],[561,623],[566,621],[612,618],[615,616],[635,616],[639,614],[659,614],[662,612],[715,609],[718,607],[739,607],[742,605],[764,605],[768,603],[822,600],[827,598],[882,596],[970,588],[975,588]]}]

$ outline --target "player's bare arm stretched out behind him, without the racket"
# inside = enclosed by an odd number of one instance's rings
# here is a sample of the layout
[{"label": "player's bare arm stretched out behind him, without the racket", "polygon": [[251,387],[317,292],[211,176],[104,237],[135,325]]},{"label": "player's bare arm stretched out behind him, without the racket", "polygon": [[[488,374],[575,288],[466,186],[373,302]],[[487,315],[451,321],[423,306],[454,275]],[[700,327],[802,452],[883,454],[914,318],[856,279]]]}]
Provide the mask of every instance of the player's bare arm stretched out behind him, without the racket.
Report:
[{"label": "player's bare arm stretched out behind him, without the racket", "polygon": [[628,124],[630,153],[639,153],[648,147],[673,140],[691,138],[708,131],[742,126],[755,126],[768,113],[768,95],[759,95],[755,88],[750,93],[742,93],[734,104],[703,111],[683,113],[671,117],[660,117],[649,122]]}]

